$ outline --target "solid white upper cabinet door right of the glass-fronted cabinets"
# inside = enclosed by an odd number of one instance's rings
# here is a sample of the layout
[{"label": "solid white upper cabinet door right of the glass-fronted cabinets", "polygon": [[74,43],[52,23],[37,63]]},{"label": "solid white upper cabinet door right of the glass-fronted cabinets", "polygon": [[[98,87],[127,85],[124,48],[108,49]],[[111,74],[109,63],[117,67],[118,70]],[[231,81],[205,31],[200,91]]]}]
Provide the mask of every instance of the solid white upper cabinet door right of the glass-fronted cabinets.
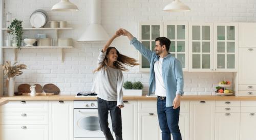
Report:
[{"label": "solid white upper cabinet door right of the glass-fronted cabinets", "polygon": [[239,23],[239,47],[256,47],[256,23]]}]

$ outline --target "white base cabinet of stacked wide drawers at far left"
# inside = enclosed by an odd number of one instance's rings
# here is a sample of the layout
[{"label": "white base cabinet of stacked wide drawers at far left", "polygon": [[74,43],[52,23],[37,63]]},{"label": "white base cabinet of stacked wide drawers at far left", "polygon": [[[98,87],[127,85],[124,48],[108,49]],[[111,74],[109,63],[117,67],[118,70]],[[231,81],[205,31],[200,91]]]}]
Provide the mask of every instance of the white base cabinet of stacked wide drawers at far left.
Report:
[{"label": "white base cabinet of stacked wide drawers at far left", "polygon": [[48,139],[48,101],[9,101],[0,115],[1,140]]}]

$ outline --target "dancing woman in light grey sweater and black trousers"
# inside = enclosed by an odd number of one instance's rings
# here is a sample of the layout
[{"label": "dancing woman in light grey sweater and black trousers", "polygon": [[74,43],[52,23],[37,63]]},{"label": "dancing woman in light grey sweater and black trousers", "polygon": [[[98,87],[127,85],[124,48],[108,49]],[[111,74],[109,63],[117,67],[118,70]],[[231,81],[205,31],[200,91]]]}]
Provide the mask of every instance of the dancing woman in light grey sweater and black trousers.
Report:
[{"label": "dancing woman in light grey sweater and black trousers", "polygon": [[119,53],[115,47],[109,47],[112,41],[119,37],[117,31],[115,35],[106,42],[98,57],[98,72],[93,86],[93,91],[98,95],[98,115],[101,131],[107,140],[113,140],[108,124],[109,111],[111,114],[112,127],[116,135],[116,140],[122,139],[121,109],[123,105],[123,74],[127,71],[123,65],[139,65],[133,58],[126,57]]}]

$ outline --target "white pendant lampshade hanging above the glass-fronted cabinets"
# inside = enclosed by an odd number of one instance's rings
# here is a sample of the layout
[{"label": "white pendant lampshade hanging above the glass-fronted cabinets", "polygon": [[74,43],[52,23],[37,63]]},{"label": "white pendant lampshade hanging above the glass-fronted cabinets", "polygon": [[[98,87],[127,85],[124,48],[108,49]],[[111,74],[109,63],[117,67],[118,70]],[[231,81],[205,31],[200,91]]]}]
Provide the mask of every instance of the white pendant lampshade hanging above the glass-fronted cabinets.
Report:
[{"label": "white pendant lampshade hanging above the glass-fronted cabinets", "polygon": [[179,0],[174,0],[172,3],[166,5],[163,9],[166,12],[188,12],[191,11],[188,6],[180,2]]}]

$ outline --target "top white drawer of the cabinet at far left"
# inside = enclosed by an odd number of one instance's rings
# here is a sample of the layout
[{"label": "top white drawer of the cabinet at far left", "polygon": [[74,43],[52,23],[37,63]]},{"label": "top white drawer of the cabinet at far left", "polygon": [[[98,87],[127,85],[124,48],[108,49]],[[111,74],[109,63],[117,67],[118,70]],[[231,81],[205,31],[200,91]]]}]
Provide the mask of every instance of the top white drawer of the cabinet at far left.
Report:
[{"label": "top white drawer of the cabinet at far left", "polygon": [[0,112],[47,112],[48,101],[9,101]]}]

